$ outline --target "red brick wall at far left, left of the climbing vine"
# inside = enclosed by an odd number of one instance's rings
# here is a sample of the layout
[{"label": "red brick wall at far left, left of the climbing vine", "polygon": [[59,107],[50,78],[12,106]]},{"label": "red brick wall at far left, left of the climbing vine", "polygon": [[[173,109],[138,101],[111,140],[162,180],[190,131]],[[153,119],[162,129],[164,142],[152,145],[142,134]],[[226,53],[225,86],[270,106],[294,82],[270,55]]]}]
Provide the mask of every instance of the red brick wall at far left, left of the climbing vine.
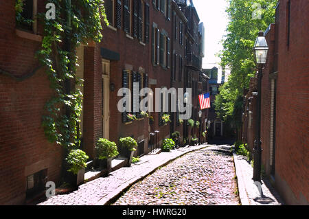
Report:
[{"label": "red brick wall at far left, left of the climbing vine", "polygon": [[21,204],[26,176],[47,168],[47,181],[58,183],[62,150],[49,143],[41,126],[43,107],[52,95],[43,69],[19,81],[38,66],[40,43],[16,36],[14,1],[0,3],[0,204]]}]

